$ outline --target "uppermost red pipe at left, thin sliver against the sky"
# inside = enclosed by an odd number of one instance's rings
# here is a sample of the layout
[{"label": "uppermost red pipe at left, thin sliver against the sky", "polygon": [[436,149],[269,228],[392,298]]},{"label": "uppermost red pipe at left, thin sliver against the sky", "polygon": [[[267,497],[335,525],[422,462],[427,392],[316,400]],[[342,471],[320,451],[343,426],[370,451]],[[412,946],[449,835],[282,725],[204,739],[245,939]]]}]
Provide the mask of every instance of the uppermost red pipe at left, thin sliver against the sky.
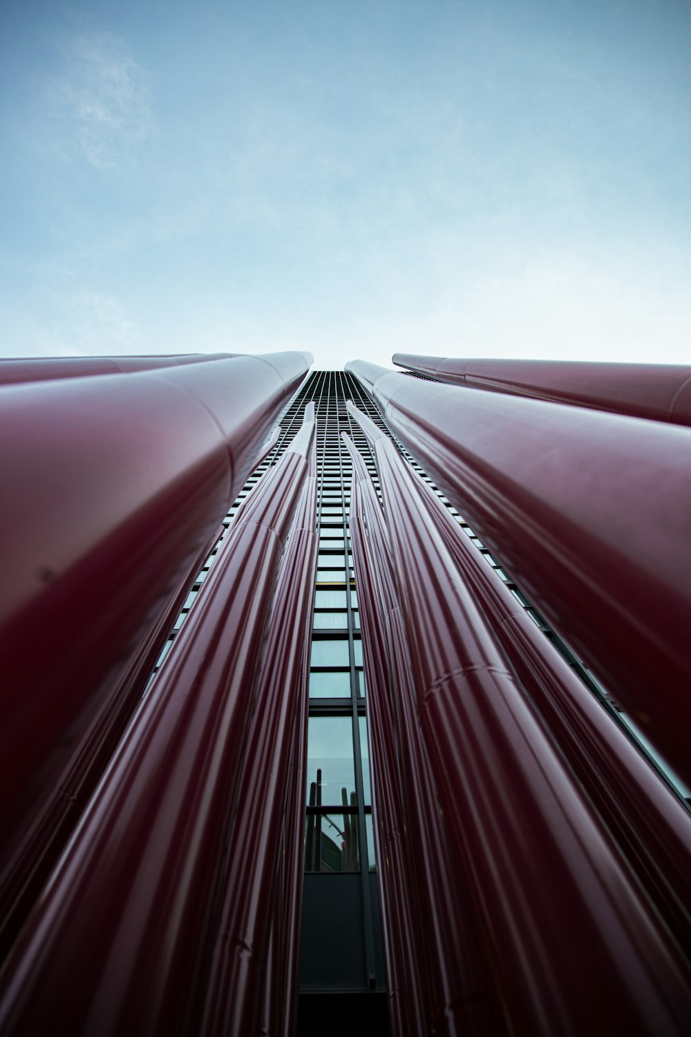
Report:
[{"label": "uppermost red pipe at left, thin sliver against the sky", "polygon": [[82,379],[91,374],[123,374],[150,371],[181,364],[201,364],[209,360],[238,357],[237,353],[191,353],[180,356],[151,357],[35,357],[0,360],[0,386],[53,379]]}]

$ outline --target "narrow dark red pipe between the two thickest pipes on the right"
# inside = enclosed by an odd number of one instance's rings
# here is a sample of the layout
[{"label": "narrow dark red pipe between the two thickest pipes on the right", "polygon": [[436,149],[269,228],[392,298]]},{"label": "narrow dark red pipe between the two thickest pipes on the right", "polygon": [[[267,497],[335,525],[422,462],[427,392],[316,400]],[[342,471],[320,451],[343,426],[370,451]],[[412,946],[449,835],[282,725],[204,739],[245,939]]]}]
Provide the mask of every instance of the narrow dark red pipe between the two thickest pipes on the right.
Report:
[{"label": "narrow dark red pipe between the two thickest pipes on the right", "polygon": [[691,816],[523,608],[458,524],[414,476],[459,569],[583,788],[691,958]]}]

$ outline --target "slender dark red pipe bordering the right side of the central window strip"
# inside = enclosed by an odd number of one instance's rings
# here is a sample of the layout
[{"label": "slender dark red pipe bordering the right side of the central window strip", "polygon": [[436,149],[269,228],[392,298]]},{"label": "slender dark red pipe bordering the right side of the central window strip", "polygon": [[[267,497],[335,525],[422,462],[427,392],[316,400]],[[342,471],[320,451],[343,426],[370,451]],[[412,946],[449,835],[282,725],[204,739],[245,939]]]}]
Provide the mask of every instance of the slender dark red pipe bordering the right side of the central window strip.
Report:
[{"label": "slender dark red pipe bordering the right side of the central window strip", "polygon": [[[372,440],[381,435],[367,419],[363,423]],[[392,1032],[505,1033],[439,817],[381,505],[362,457],[344,439],[353,459],[350,530],[366,671],[372,661],[378,671],[367,683],[374,791],[381,807],[378,877],[388,910],[387,954],[401,959],[394,986],[387,957]],[[387,877],[396,884],[391,895]]]}]

